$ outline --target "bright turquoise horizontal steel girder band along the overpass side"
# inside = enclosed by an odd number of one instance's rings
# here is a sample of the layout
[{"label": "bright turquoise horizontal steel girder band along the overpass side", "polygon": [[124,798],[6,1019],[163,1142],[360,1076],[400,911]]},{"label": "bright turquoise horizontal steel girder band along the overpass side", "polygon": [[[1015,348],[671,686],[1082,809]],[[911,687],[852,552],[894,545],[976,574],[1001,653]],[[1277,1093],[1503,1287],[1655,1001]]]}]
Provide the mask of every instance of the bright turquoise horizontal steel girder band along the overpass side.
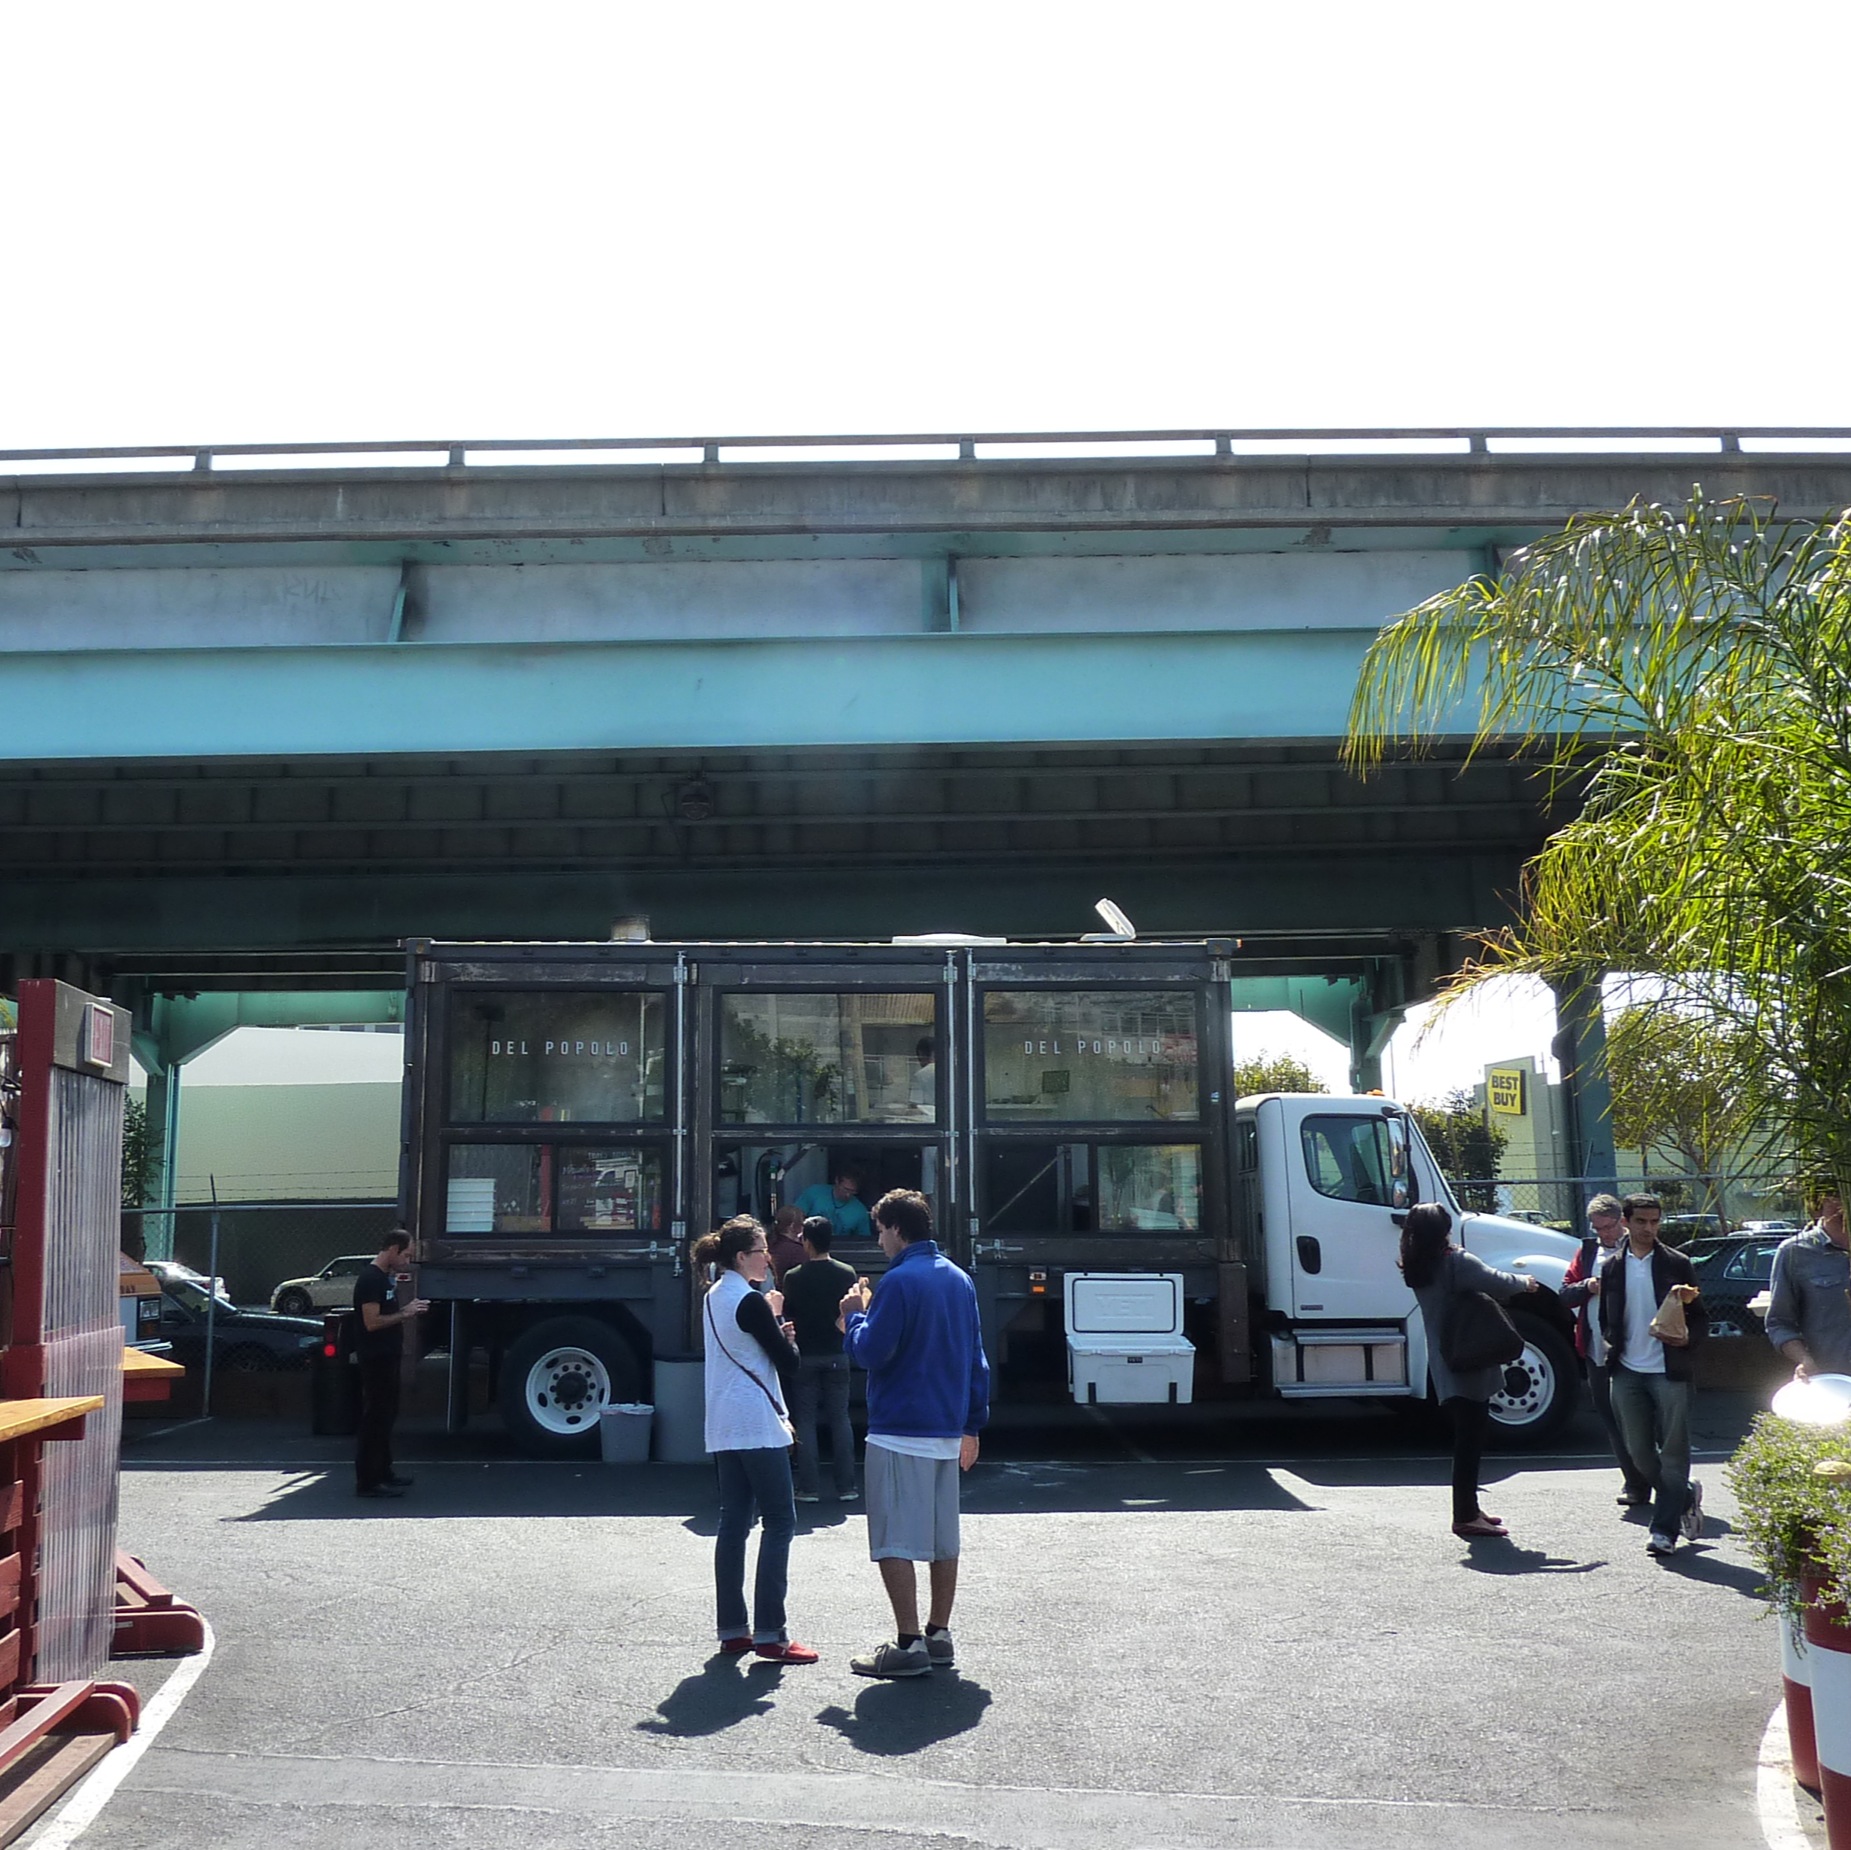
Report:
[{"label": "bright turquoise horizontal steel girder band along the overpass side", "polygon": [[1340,739],[1362,630],[9,654],[13,759]]}]

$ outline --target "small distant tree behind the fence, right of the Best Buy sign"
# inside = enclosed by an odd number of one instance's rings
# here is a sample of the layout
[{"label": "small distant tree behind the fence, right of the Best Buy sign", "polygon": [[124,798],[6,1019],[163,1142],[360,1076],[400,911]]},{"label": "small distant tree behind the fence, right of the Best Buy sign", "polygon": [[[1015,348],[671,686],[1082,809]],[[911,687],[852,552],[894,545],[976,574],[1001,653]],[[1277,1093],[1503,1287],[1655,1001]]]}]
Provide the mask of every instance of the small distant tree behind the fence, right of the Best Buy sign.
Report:
[{"label": "small distant tree behind the fence, right of the Best Buy sign", "polygon": [[1721,1211],[1718,1172],[1768,1141],[1770,1100],[1753,1083],[1758,1046],[1740,1028],[1677,1009],[1629,1007],[1607,1024],[1614,1139],[1651,1161],[1671,1150],[1705,1178],[1701,1206]]}]

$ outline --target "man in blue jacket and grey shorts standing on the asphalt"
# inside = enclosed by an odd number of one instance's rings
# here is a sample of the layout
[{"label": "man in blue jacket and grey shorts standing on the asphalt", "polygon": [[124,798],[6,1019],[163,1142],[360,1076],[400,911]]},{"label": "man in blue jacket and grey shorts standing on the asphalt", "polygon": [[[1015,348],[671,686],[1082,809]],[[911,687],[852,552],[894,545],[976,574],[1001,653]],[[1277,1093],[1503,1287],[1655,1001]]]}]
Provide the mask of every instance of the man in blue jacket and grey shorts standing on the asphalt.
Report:
[{"label": "man in blue jacket and grey shorts standing on the asphalt", "polygon": [[[977,1433],[990,1417],[990,1365],[977,1287],[938,1252],[926,1196],[890,1189],[874,1204],[874,1235],[888,1259],[887,1276],[879,1294],[863,1278],[842,1298],[842,1346],[868,1370],[868,1554],[898,1637],[853,1657],[850,1669],[926,1676],[955,1656],[957,1474],[977,1463]],[[924,1628],[914,1561],[929,1563]]]}]

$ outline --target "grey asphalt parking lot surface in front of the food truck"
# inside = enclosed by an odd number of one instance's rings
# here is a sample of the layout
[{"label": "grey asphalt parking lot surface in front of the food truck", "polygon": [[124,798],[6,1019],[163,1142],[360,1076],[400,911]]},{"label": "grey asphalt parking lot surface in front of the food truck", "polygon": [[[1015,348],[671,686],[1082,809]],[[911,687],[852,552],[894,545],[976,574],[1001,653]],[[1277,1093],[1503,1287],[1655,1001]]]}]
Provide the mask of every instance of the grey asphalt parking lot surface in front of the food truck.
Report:
[{"label": "grey asphalt parking lot surface in front of the food truck", "polygon": [[1488,1463],[1514,1539],[1473,1544],[1381,1415],[1005,1420],[959,1665],[916,1683],[848,1670],[887,1626],[859,1506],[800,1507],[824,1657],[785,1669],[713,1654],[705,1467],[405,1433],[416,1487],[361,1504],[339,1441],[137,1433],[124,1546],[217,1646],[81,1843],[1760,1844],[1779,1667],[1714,1459],[1747,1411],[1701,1402],[1710,1533],[1668,1567],[1586,1420]]}]

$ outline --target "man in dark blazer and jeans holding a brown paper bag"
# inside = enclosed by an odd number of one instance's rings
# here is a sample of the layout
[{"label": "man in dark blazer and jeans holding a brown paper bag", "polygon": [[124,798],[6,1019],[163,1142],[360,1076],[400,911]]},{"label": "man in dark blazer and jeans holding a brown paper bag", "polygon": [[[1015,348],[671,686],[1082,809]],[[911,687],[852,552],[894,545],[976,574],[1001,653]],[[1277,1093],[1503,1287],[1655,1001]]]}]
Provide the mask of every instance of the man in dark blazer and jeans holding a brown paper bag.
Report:
[{"label": "man in dark blazer and jeans holding a brown paper bag", "polygon": [[[1651,1483],[1646,1554],[1666,1557],[1703,1533],[1703,1485],[1690,1476],[1690,1350],[1708,1330],[1690,1261],[1658,1243],[1662,1204],[1629,1194],[1625,1239],[1601,1263],[1601,1335],[1610,1359],[1614,1419],[1634,1467]],[[1686,1335],[1653,1330],[1666,1293],[1683,1300]]]}]

